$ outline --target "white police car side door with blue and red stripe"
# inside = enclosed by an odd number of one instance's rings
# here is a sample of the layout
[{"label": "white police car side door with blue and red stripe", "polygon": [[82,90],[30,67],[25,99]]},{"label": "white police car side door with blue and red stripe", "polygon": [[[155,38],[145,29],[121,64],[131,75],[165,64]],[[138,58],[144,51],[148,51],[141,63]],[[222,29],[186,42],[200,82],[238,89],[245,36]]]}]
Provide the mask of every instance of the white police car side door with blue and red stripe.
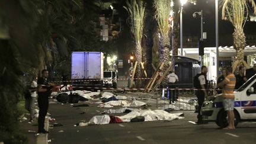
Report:
[{"label": "white police car side door with blue and red stripe", "polygon": [[240,111],[241,111],[242,119],[256,119],[256,89],[255,89],[256,78],[255,77],[256,75],[254,75],[251,79],[249,79],[245,83],[247,87],[243,91],[241,91],[241,101],[239,104],[241,106]]}]

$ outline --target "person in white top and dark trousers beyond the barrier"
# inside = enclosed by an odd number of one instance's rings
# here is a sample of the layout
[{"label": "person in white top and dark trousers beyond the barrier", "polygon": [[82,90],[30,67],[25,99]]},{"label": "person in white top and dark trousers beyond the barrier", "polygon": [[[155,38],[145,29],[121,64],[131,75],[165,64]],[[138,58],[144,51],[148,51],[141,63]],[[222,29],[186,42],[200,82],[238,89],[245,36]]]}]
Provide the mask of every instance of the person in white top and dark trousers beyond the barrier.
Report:
[{"label": "person in white top and dark trousers beyond the barrier", "polygon": [[[178,82],[178,76],[175,74],[175,70],[169,71],[169,75],[167,75],[168,79],[168,88],[175,88],[175,82]],[[169,91],[169,89],[168,89]],[[168,94],[168,92],[167,92]],[[170,94],[170,93],[169,93]],[[175,104],[176,101],[176,91],[171,91],[171,98],[169,99],[169,104]]]}]

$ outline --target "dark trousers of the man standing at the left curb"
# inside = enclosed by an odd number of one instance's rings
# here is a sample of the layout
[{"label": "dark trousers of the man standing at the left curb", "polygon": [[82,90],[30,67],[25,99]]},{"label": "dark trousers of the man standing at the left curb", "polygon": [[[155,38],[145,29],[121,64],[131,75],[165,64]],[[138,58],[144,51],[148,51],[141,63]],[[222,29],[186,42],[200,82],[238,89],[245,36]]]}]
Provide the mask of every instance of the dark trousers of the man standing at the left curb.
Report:
[{"label": "dark trousers of the man standing at the left curb", "polygon": [[39,96],[37,103],[39,106],[38,130],[39,132],[42,132],[44,130],[44,120],[49,107],[48,97]]}]

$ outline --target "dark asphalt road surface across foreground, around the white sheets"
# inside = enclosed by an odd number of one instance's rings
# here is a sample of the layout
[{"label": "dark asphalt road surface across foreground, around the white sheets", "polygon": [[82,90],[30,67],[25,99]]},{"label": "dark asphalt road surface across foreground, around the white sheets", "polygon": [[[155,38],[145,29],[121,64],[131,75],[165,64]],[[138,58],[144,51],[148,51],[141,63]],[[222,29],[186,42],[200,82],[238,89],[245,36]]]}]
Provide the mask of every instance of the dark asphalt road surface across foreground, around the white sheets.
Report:
[{"label": "dark asphalt road surface across foreground, around the white sheets", "polygon": [[[89,121],[108,109],[89,105],[76,108],[70,104],[50,104],[55,122],[63,124],[49,129],[50,143],[256,143],[255,122],[239,123],[235,130],[222,130],[215,123],[194,124],[194,111],[172,112],[184,112],[185,119],[180,120],[75,127],[81,120]],[[123,114],[117,114],[120,115]]]}]

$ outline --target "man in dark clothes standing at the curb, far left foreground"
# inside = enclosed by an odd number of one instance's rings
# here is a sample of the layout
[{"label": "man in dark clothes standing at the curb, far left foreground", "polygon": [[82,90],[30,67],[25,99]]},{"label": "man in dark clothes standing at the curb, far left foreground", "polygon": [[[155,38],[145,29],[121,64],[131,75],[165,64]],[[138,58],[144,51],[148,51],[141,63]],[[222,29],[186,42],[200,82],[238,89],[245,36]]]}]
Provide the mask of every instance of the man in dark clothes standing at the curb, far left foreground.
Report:
[{"label": "man in dark clothes standing at the curb, far left foreground", "polygon": [[37,81],[37,91],[39,98],[37,100],[39,106],[39,119],[38,119],[38,133],[49,133],[44,129],[44,120],[49,106],[49,97],[52,93],[52,86],[47,81],[48,71],[44,69],[41,71],[42,77]]}]

